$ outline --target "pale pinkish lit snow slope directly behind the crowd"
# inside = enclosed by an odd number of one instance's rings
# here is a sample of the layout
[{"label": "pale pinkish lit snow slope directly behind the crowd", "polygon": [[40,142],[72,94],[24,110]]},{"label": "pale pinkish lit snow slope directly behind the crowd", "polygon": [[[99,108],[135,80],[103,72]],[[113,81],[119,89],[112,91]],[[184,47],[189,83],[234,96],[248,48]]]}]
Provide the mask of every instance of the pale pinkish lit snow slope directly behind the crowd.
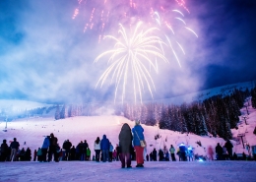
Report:
[{"label": "pale pinkish lit snow slope directly behind the crowd", "polygon": [[[102,137],[103,134],[115,146],[118,144],[118,135],[123,123],[134,126],[132,121],[120,116],[80,116],[63,120],[54,121],[53,118],[32,118],[27,120],[12,121],[8,123],[7,132],[0,132],[1,139],[12,141],[14,137],[18,139],[21,148],[30,147],[35,150],[42,145],[43,136],[54,133],[62,146],[64,140],[69,139],[74,146],[80,141],[87,140],[89,146],[93,148],[96,137]],[[0,128],[4,129],[5,122],[0,123]],[[145,126],[145,137],[148,143],[148,152],[152,152],[154,148],[159,150],[163,146],[169,148],[170,145],[177,147],[184,143],[195,149],[195,153],[207,155],[210,146],[215,147],[217,143],[224,145],[222,138],[200,137],[193,134],[180,134],[169,130],[160,130],[158,127]],[[160,139],[155,140],[155,136],[160,134]],[[202,147],[196,142],[200,141]],[[26,145],[25,145],[26,142]]]}]

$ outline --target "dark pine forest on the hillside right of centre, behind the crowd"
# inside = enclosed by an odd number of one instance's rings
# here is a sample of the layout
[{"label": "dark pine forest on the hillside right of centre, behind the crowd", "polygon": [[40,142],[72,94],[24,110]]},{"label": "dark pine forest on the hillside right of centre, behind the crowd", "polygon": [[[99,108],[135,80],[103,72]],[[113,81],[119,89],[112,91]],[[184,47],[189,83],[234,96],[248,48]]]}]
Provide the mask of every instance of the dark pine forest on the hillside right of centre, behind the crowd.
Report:
[{"label": "dark pine forest on the hillside right of centre, behind the crowd", "polygon": [[[256,90],[255,90],[256,91]],[[181,133],[194,133],[231,139],[230,129],[239,122],[240,108],[249,90],[233,90],[230,95],[217,95],[202,102],[181,105],[160,103],[126,104],[124,116],[130,120],[140,119],[143,124]]]}]

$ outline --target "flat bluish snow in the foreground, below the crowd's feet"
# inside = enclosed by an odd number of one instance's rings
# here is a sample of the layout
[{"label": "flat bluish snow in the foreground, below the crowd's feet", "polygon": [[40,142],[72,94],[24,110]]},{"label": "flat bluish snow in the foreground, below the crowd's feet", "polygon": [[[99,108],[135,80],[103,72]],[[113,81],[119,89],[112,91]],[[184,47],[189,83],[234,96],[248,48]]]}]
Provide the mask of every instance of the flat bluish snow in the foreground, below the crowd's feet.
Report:
[{"label": "flat bluish snow in the foreground, below the crowd's feet", "polygon": [[0,181],[153,181],[153,182],[255,182],[256,162],[145,162],[145,168],[121,168],[119,161],[5,162]]}]

